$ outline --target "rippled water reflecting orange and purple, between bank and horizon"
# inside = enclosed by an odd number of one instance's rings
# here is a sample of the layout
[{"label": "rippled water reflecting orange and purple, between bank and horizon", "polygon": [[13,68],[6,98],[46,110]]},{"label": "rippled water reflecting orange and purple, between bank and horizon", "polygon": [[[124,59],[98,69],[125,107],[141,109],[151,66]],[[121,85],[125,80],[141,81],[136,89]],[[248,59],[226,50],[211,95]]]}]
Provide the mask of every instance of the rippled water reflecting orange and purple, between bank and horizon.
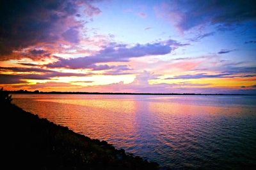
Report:
[{"label": "rippled water reflecting orange and purple, between bank and horizon", "polygon": [[56,124],[173,169],[256,166],[256,96],[15,94]]}]

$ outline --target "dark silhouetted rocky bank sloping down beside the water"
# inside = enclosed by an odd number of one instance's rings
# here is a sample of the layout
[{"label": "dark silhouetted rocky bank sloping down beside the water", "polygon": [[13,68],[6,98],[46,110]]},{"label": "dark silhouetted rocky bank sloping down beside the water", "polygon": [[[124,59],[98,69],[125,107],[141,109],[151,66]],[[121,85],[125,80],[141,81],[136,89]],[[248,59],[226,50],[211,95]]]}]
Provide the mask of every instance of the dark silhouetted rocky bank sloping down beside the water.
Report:
[{"label": "dark silhouetted rocky bank sloping down beside the water", "polygon": [[[3,163],[19,169],[159,169],[1,100]],[[3,166],[3,165],[2,165]]]}]

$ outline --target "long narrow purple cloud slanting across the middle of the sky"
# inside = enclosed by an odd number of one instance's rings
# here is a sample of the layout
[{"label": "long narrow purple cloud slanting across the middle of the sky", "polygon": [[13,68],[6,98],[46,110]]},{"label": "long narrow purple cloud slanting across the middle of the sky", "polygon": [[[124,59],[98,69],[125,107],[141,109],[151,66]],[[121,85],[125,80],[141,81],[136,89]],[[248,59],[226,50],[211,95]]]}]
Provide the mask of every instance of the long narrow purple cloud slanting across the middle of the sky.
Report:
[{"label": "long narrow purple cloud slanting across the middle of the sky", "polygon": [[182,46],[172,39],[164,43],[137,44],[129,47],[128,45],[111,44],[105,46],[97,54],[76,59],[59,58],[58,61],[47,64],[47,67],[68,67],[70,69],[90,68],[93,64],[100,62],[127,62],[132,57],[144,57],[147,55],[164,55],[172,51],[173,46]]}]

